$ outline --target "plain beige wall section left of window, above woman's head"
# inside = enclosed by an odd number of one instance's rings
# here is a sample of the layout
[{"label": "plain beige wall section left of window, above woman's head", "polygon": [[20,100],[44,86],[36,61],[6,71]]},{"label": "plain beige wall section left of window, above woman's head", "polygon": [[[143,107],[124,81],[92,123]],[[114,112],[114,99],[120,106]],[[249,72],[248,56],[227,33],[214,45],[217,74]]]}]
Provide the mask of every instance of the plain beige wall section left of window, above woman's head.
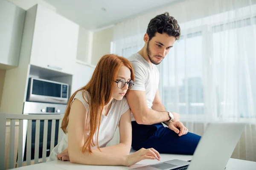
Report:
[{"label": "plain beige wall section left of window, above woman's head", "polygon": [[110,53],[110,43],[113,40],[113,27],[93,32],[93,49],[91,62],[97,65],[99,59]]}]

